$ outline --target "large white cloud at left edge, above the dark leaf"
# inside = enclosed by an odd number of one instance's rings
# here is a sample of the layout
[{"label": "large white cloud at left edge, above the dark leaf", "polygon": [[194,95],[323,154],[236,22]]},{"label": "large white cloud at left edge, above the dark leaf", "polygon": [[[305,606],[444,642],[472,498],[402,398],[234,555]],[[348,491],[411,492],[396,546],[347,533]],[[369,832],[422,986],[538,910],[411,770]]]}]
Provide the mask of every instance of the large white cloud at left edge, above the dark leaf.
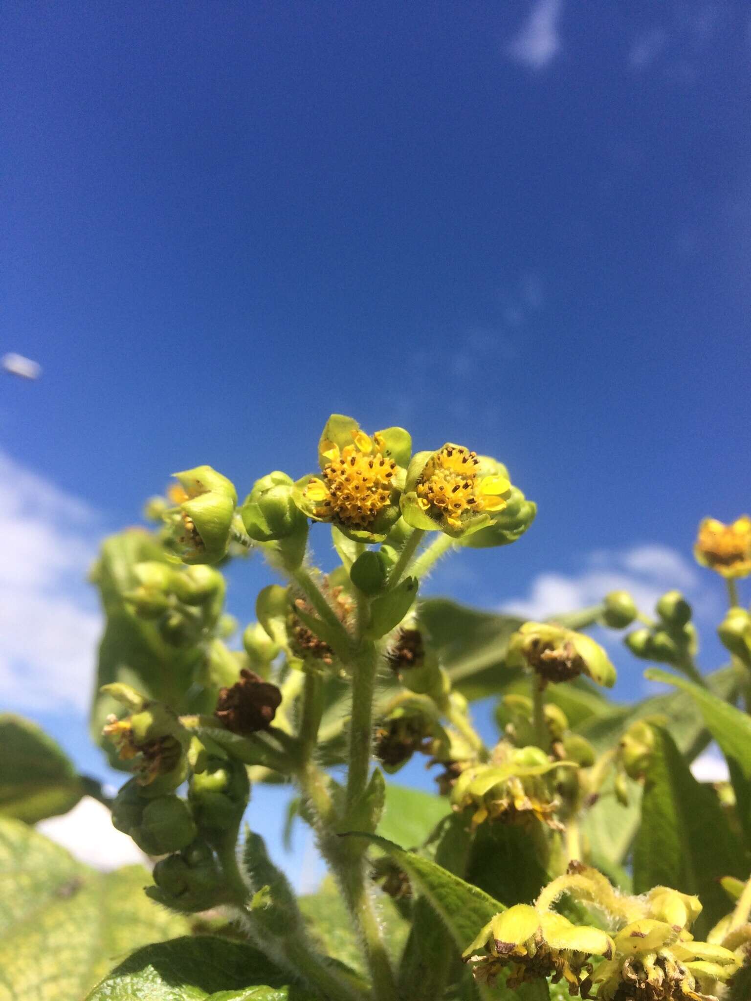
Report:
[{"label": "large white cloud at left edge, above the dark leaf", "polygon": [[0,451],[0,703],[85,710],[100,618],[85,585],[97,516]]}]

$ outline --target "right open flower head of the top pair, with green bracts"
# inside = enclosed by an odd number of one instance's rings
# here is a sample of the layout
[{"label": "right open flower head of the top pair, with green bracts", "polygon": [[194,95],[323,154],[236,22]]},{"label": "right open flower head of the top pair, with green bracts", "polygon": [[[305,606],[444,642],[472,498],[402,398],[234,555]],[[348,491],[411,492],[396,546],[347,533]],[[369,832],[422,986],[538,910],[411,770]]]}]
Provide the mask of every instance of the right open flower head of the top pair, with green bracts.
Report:
[{"label": "right open flower head of the top pair, with green bracts", "polygon": [[408,525],[455,539],[489,526],[511,495],[506,467],[488,455],[447,442],[410,462],[402,512]]}]

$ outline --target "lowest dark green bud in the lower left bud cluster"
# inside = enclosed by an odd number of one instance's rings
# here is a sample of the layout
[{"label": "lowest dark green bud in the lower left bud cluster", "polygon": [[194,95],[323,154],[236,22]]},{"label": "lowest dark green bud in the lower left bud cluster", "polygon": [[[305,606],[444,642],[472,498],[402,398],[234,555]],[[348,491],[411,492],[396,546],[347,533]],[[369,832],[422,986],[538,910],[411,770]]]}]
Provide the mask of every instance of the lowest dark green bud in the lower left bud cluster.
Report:
[{"label": "lowest dark green bud in the lower left bud cluster", "polygon": [[226,887],[210,847],[200,838],[178,855],[154,866],[155,887],[146,893],[157,903],[192,913],[216,907],[226,899]]}]

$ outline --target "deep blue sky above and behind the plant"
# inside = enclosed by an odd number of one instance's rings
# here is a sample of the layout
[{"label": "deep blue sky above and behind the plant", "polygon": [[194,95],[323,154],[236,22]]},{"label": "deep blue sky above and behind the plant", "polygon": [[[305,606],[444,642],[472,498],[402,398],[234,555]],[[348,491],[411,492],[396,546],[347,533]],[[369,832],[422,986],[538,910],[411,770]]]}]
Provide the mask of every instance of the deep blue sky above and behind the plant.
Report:
[{"label": "deep blue sky above and behind the plant", "polygon": [[96,539],[177,468],[300,475],[331,410],[539,503],[435,592],[719,608],[690,546],[750,504],[746,4],[32,0],[1,34],[0,349],[43,367],[0,383],[2,701],[100,767]]}]

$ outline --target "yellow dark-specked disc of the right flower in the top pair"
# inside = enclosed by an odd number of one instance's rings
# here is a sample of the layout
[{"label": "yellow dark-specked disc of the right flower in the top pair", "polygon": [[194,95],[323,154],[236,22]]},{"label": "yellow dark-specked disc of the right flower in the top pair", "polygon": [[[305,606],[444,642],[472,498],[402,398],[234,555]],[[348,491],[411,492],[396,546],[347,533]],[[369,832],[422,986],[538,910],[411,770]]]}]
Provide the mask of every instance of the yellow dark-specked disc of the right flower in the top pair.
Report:
[{"label": "yellow dark-specked disc of the right flower in the top pair", "polygon": [[437,520],[453,528],[462,525],[467,513],[498,512],[506,507],[503,496],[511,483],[505,476],[483,476],[477,452],[462,445],[446,444],[426,462],[416,484],[418,504]]}]

